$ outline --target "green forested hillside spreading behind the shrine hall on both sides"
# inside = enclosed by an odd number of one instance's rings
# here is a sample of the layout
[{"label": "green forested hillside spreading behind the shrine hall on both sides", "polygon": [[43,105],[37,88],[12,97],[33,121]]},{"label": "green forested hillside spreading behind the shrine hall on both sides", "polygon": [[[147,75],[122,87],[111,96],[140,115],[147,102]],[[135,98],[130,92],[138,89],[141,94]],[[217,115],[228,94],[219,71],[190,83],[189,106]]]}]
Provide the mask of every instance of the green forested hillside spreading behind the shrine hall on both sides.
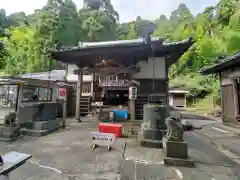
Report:
[{"label": "green forested hillside spreading behind the shrine hall on both sides", "polygon": [[[0,9],[0,71],[18,75],[54,68],[46,58],[54,46],[77,46],[80,41],[129,40],[143,36],[143,26],[152,23],[140,16],[135,21],[119,23],[119,14],[110,0],[84,0],[77,9],[72,0],[48,0],[33,14],[15,12],[6,15]],[[202,76],[199,70],[219,62],[219,57],[240,50],[240,1],[220,0],[194,16],[180,4],[170,18],[161,15],[154,23],[153,36],[166,41],[193,37],[195,43],[170,69],[170,82],[182,86],[192,96],[219,97],[218,77]],[[51,66],[51,67],[50,67]]]}]

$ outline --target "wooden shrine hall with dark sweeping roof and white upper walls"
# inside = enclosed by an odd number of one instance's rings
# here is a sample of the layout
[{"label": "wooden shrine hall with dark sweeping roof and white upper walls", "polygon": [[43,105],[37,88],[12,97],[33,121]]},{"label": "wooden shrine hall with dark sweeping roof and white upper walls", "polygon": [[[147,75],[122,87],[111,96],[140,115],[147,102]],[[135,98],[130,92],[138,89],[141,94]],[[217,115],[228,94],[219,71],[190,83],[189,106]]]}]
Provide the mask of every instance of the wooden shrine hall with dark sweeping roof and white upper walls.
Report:
[{"label": "wooden shrine hall with dark sweeping roof and white upper walls", "polygon": [[[57,49],[51,57],[67,63],[68,73],[76,74],[72,80],[76,90],[73,87],[68,90],[68,108],[75,110],[77,119],[84,111],[83,97],[93,101],[104,98],[111,104],[109,97],[117,92],[122,97],[120,103],[128,106],[128,88],[136,86],[135,119],[141,120],[144,104],[169,104],[169,67],[192,43],[191,38],[173,43],[159,38],[151,38],[150,42],[136,39],[82,43],[80,47]],[[70,79],[68,76],[69,83]],[[112,101],[113,104],[116,99]]]}]

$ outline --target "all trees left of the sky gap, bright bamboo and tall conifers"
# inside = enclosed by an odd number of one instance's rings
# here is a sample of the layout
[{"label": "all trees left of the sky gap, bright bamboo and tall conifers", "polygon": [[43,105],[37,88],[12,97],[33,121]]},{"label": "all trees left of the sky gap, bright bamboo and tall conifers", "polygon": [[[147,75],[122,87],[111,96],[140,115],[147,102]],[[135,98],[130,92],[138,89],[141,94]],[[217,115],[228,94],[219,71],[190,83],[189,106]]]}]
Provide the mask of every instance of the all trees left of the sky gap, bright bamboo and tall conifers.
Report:
[{"label": "all trees left of the sky gap, bright bamboo and tall conifers", "polygon": [[76,46],[79,41],[116,39],[118,13],[109,0],[98,8],[79,12],[72,0],[48,0],[46,5],[26,16],[16,12],[6,16],[0,10],[0,70],[17,75],[48,70],[55,65],[47,52],[55,45]]}]

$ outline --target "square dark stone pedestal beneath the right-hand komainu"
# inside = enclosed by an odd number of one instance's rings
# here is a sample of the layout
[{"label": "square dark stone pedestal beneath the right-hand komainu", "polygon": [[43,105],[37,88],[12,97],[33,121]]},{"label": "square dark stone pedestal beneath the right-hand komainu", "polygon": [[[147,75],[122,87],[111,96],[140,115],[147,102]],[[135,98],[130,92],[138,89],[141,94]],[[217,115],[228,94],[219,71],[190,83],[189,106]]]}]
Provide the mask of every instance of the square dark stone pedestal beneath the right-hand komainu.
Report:
[{"label": "square dark stone pedestal beneath the right-hand komainu", "polygon": [[168,141],[163,138],[164,164],[173,166],[193,167],[194,161],[188,158],[188,145],[186,142]]}]

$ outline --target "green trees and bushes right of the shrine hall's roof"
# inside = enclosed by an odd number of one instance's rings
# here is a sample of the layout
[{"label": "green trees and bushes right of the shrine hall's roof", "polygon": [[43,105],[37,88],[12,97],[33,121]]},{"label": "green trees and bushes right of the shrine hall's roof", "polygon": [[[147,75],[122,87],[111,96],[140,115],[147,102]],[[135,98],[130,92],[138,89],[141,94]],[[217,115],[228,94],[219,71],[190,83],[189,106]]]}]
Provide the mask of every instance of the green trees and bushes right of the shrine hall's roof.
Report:
[{"label": "green trees and bushes right of the shrine hall's roof", "polygon": [[174,64],[169,73],[172,84],[189,90],[192,96],[212,94],[219,98],[217,76],[198,74],[205,66],[218,62],[220,55],[232,55],[240,50],[240,14],[237,0],[220,0],[217,6],[207,7],[194,18],[181,4],[167,19],[157,19],[154,36],[168,40],[195,39],[193,46]]}]

